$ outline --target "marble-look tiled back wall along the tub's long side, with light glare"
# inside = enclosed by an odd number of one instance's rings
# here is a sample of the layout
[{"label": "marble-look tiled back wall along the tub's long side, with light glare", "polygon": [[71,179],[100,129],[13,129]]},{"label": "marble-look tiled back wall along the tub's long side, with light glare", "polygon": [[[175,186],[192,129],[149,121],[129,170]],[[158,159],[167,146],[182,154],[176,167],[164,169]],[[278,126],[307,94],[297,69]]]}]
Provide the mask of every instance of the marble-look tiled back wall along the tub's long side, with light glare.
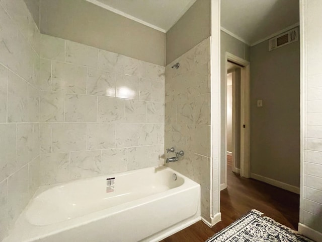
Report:
[{"label": "marble-look tiled back wall along the tub's long side, with light glare", "polygon": [[42,185],[164,163],[165,67],[41,35]]}]

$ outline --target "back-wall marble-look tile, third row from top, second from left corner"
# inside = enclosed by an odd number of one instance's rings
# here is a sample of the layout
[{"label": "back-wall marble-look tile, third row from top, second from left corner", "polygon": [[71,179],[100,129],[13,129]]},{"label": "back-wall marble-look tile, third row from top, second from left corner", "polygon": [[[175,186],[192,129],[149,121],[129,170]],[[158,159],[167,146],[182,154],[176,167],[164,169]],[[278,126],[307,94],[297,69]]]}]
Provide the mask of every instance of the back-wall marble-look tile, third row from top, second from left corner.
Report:
[{"label": "back-wall marble-look tile, third row from top, second from left corner", "polygon": [[96,96],[65,95],[65,122],[96,122],[96,120]]}]

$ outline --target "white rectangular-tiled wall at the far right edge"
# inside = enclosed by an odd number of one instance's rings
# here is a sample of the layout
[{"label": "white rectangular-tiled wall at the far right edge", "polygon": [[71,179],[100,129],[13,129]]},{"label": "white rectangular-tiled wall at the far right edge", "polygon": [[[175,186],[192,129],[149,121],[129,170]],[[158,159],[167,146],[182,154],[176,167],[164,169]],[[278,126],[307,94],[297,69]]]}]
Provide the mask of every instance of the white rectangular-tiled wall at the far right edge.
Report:
[{"label": "white rectangular-tiled wall at the far right edge", "polygon": [[[301,115],[304,126],[303,173],[300,223],[322,233],[322,71],[320,68],[322,53],[322,35],[318,31],[317,21],[321,20],[320,1],[305,1],[306,19],[303,35],[306,51],[306,66],[302,83],[304,105]],[[304,132],[306,131],[306,132]],[[307,144],[305,144],[307,142]]]}]

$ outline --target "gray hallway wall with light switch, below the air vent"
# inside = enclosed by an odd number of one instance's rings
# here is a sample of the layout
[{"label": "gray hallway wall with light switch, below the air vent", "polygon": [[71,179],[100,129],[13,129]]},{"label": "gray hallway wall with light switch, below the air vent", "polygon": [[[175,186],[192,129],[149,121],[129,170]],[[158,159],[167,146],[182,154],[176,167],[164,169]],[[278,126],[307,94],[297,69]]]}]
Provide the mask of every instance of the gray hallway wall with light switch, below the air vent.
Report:
[{"label": "gray hallway wall with light switch, below the air vent", "polygon": [[[251,173],[299,187],[300,45],[251,48]],[[263,107],[257,107],[263,99]]]}]

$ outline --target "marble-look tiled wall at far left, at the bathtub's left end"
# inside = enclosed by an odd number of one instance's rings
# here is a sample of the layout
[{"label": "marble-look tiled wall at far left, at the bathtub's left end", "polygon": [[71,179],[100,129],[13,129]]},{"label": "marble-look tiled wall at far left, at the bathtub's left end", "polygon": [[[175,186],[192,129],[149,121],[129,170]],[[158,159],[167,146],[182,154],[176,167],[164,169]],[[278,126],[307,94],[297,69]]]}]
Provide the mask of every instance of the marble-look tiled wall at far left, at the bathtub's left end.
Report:
[{"label": "marble-look tiled wall at far left, at the bathtub's left end", "polygon": [[23,0],[0,1],[0,240],[39,186],[39,44]]}]

